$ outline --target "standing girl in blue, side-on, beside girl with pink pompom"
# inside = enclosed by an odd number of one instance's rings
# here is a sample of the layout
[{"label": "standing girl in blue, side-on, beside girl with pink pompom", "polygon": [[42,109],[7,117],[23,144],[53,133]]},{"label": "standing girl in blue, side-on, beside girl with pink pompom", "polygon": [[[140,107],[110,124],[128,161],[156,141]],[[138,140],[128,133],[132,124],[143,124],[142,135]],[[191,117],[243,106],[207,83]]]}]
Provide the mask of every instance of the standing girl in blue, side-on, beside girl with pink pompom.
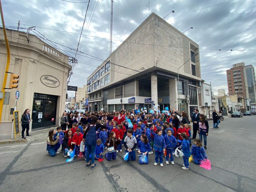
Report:
[{"label": "standing girl in blue, side-on, beside girl with pink pompom", "polygon": [[188,167],[189,167],[188,158],[190,157],[190,148],[189,148],[188,136],[184,132],[182,132],[181,133],[181,138],[183,140],[182,140],[180,149],[182,149],[182,152],[184,154],[184,156],[183,156],[184,164],[182,165],[183,167],[181,167],[181,168],[184,169],[184,170],[188,170]]}]

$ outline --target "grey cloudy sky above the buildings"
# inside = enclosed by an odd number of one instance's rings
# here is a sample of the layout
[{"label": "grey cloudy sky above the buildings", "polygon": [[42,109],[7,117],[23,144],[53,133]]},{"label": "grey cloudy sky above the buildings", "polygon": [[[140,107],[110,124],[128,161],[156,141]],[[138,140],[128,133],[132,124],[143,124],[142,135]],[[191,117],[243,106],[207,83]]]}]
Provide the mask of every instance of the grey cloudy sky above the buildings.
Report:
[{"label": "grey cloudy sky above the buildings", "polygon": [[[20,20],[20,27],[36,26],[35,29],[45,34],[49,40],[75,49],[88,2],[74,2],[89,0],[67,1],[73,2],[2,0],[6,26],[16,27]],[[80,40],[81,52],[101,59],[109,56],[110,9],[110,0],[90,1]],[[172,10],[175,12],[170,13]],[[170,13],[165,20],[181,32],[193,27],[186,31],[185,35],[202,48],[202,79],[206,83],[211,81],[214,91],[227,90],[226,70],[232,67],[232,64],[245,62],[245,65],[256,66],[256,0],[150,0],[149,8],[148,0],[114,0],[112,50],[114,51],[152,12],[160,17]],[[63,47],[62,49],[72,52],[69,54],[74,57],[74,51]],[[230,51],[231,49],[233,51]],[[79,55],[69,85],[83,87],[88,75],[101,63]]]}]

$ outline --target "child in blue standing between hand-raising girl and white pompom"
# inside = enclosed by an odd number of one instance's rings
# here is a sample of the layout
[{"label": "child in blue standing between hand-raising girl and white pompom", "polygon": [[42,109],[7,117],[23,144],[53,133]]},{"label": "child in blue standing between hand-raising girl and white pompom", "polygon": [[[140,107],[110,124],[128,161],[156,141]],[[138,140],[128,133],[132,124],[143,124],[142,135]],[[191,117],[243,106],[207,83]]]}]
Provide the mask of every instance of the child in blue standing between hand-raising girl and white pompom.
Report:
[{"label": "child in blue standing between hand-raising girl and white pompom", "polygon": [[166,164],[169,164],[169,156],[171,155],[171,164],[174,165],[174,161],[173,161],[173,151],[174,148],[177,145],[177,140],[176,138],[172,135],[172,131],[170,129],[168,129],[167,131],[167,135],[164,136],[164,140],[166,143]]}]

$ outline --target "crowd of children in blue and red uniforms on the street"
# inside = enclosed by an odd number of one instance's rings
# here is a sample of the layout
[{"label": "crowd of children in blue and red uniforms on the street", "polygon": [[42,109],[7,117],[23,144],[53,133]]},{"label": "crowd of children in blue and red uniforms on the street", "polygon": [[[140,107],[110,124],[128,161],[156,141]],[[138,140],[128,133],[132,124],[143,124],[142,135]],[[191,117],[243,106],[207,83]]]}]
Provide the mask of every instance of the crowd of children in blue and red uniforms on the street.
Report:
[{"label": "crowd of children in blue and red uniforms on the street", "polygon": [[[80,144],[85,138],[83,135],[94,116],[98,117],[100,123],[106,126],[96,131],[95,159],[103,158],[105,151],[106,160],[115,160],[117,153],[122,152],[123,146],[124,152],[128,153],[128,160],[136,160],[136,151],[139,156],[145,157],[144,160],[139,158],[139,164],[148,164],[148,155],[155,151],[155,166],[160,163],[160,166],[163,167],[163,157],[165,157],[166,164],[169,164],[170,160],[173,165],[173,152],[177,147],[184,154],[182,169],[188,169],[188,158],[191,155],[194,157],[195,164],[200,164],[201,160],[207,159],[200,139],[194,140],[190,151],[192,145],[191,126],[188,123],[181,123],[179,116],[158,114],[156,111],[153,114],[145,114],[144,112],[140,113],[139,110],[137,110],[137,114],[135,114],[135,110],[129,112],[121,110],[120,114],[119,112],[89,113],[87,111],[80,116],[76,114],[74,119],[78,123],[72,123],[72,128],[61,130],[61,127],[57,127],[57,132],[50,130],[47,138],[48,154],[53,157],[55,154],[59,154],[57,150],[61,148],[64,157],[69,155],[68,151],[73,150],[75,150],[75,156],[81,156]],[[85,152],[82,154],[85,159],[90,158],[86,157]]]}]

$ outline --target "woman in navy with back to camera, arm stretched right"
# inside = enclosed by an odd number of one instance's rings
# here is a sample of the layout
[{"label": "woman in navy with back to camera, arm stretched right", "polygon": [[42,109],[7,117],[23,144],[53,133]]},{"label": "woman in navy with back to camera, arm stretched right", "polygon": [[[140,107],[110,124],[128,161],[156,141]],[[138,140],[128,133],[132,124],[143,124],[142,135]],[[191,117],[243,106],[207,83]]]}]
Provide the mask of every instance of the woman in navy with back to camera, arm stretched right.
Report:
[{"label": "woman in navy with back to camera, arm stretched right", "polygon": [[[94,163],[95,160],[95,148],[96,148],[96,131],[99,128],[106,129],[107,127],[98,123],[99,118],[94,116],[92,119],[92,122],[90,126],[86,129],[84,133],[84,142],[87,148],[87,153],[86,153],[86,168],[91,166],[91,169],[94,169],[97,164]],[[90,154],[92,154],[92,162],[90,162]]]}]

